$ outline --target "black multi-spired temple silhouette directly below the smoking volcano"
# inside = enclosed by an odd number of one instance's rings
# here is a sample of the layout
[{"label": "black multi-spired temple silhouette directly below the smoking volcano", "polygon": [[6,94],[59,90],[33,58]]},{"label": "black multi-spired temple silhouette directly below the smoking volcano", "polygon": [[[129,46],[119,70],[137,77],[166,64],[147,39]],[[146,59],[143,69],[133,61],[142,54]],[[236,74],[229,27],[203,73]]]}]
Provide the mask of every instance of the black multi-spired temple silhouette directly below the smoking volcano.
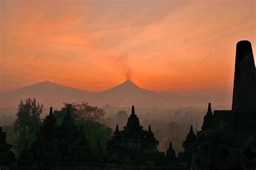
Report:
[{"label": "black multi-spired temple silhouette directly below the smoking volcano", "polygon": [[108,142],[107,151],[114,160],[125,161],[156,161],[164,158],[163,152],[158,152],[159,141],[154,138],[154,133],[149,130],[143,130],[140,126],[139,118],[135,114],[134,106],[132,113],[128,118],[127,125],[123,131],[114,132],[114,137]]}]

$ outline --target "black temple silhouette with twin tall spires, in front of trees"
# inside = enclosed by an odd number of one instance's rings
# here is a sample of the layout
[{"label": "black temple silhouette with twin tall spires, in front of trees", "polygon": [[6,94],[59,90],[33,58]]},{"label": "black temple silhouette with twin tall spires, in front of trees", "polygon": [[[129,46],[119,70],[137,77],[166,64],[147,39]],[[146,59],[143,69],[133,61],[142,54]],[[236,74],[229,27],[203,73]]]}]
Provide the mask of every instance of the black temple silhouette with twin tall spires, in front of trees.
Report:
[{"label": "black temple silhouette with twin tall spires, in front of trees", "polygon": [[50,113],[37,138],[29,149],[27,146],[19,157],[17,169],[76,169],[83,162],[84,167],[93,167],[97,161],[91,152],[89,140],[83,128],[77,130],[68,108],[62,125],[56,125],[56,118]]}]

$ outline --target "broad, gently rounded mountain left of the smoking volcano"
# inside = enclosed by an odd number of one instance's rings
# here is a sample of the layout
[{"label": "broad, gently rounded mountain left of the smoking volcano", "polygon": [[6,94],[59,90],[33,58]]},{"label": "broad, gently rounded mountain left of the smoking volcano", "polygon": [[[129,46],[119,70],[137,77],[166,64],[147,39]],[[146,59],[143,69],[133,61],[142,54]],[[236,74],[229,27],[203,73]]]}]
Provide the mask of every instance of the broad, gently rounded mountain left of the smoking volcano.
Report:
[{"label": "broad, gently rounded mountain left of the smoking volcano", "polygon": [[21,89],[2,93],[2,104],[8,107],[17,107],[21,100],[25,100],[28,97],[35,97],[40,103],[46,106],[53,105],[60,107],[63,102],[75,102],[88,98],[92,93],[79,90],[62,84],[53,83],[50,81],[44,81],[26,86]]}]

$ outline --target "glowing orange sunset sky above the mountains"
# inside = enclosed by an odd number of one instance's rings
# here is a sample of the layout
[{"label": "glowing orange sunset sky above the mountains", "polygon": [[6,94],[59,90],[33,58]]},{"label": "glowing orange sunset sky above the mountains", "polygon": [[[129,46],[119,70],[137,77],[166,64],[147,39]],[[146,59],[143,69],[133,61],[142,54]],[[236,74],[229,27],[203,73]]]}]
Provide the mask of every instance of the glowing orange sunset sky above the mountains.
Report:
[{"label": "glowing orange sunset sky above the mountains", "polygon": [[1,91],[46,80],[101,91],[130,77],[230,93],[236,43],[255,55],[255,2],[1,1]]}]

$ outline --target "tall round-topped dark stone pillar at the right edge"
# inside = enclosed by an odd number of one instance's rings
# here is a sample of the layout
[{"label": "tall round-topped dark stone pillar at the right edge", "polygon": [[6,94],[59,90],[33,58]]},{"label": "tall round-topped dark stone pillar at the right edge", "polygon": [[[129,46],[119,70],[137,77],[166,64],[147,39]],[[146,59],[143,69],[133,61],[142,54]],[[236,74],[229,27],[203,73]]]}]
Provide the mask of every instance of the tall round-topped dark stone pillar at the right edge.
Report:
[{"label": "tall round-topped dark stone pillar at the right edge", "polygon": [[256,109],[256,72],[250,41],[239,41],[235,54],[232,110]]}]

